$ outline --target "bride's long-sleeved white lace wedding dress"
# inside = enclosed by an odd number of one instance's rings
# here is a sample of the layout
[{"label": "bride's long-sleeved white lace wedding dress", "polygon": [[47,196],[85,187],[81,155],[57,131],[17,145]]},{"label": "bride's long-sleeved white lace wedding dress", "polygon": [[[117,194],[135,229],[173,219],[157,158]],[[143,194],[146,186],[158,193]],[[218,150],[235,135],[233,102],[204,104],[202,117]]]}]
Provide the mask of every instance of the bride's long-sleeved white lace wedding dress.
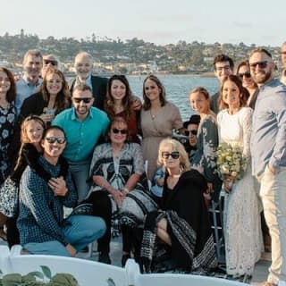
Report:
[{"label": "bride's long-sleeved white lace wedding dress", "polygon": [[[237,114],[228,114],[225,109],[217,115],[220,143],[240,146],[248,158],[251,117],[249,107],[242,107]],[[249,158],[247,172],[233,184],[224,205],[226,268],[235,277],[251,275],[263,250],[259,204]]]}]

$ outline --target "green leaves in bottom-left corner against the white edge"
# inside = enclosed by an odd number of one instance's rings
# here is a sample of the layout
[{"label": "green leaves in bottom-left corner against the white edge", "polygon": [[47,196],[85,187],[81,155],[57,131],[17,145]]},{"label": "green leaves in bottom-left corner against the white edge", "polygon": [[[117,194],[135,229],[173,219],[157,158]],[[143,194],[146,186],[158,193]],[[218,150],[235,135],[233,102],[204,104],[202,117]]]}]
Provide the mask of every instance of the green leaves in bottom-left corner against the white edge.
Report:
[{"label": "green leaves in bottom-left corner against the white edge", "polygon": [[[52,275],[47,266],[40,266],[42,272],[35,271],[27,275],[9,273],[0,278],[0,286],[78,286],[77,280],[70,273]],[[0,274],[2,272],[0,271]]]}]

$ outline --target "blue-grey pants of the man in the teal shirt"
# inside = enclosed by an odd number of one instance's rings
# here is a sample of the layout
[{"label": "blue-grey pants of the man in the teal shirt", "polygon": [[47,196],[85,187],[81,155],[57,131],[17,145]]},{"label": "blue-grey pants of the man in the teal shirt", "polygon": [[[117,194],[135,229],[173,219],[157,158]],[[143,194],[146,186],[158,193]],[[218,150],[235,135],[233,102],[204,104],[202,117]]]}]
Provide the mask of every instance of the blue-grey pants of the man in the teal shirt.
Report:
[{"label": "blue-grey pants of the man in the teal shirt", "polygon": [[90,189],[90,185],[87,182],[89,178],[90,160],[80,162],[69,161],[69,164],[71,177],[77,189],[80,203],[87,197]]}]

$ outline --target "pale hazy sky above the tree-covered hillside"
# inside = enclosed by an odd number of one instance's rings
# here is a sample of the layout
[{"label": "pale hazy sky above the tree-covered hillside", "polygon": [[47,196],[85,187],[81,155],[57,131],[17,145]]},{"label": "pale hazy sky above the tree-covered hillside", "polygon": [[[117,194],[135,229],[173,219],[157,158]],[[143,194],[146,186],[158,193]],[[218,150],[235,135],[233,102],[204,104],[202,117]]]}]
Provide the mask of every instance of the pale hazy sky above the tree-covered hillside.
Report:
[{"label": "pale hazy sky above the tree-covered hillside", "polygon": [[[281,46],[286,0],[1,0],[0,35]],[[266,3],[266,4],[265,4]]]}]

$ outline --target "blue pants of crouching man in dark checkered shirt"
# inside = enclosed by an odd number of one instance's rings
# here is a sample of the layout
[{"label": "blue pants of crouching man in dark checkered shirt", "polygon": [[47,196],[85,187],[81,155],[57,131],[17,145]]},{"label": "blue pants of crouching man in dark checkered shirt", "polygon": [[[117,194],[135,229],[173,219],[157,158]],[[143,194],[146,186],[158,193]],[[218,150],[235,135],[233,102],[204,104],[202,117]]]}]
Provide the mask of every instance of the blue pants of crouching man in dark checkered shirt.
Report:
[{"label": "blue pants of crouching man in dark checkered shirt", "polygon": [[[71,215],[62,227],[64,239],[80,251],[94,240],[100,239],[106,231],[105,221],[92,215]],[[41,243],[30,242],[24,245],[30,254],[71,257],[63,243],[51,240]]]}]

